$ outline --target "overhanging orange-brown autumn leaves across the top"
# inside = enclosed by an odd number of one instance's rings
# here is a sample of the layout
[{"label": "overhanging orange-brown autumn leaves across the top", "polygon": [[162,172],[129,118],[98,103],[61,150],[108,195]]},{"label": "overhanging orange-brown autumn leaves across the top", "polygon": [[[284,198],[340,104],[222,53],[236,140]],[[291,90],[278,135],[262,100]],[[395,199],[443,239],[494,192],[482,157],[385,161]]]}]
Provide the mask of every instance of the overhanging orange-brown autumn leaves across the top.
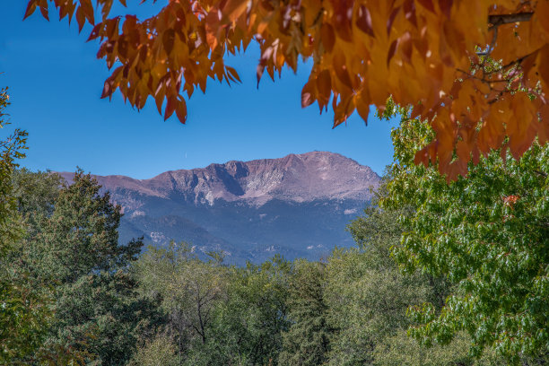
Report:
[{"label": "overhanging orange-brown autumn leaves across the top", "polygon": [[518,157],[549,140],[549,0],[170,0],[146,20],[109,17],[113,1],[30,0],[25,17],[53,3],[92,24],[113,68],[102,97],[118,89],[141,109],[152,96],[164,118],[185,122],[182,94],[208,78],[239,82],[223,57],[256,41],[257,82],[312,57],[301,104],[334,109],[334,126],[388,97],[412,106],[436,133],[415,163],[438,161],[449,179],[491,149]]}]

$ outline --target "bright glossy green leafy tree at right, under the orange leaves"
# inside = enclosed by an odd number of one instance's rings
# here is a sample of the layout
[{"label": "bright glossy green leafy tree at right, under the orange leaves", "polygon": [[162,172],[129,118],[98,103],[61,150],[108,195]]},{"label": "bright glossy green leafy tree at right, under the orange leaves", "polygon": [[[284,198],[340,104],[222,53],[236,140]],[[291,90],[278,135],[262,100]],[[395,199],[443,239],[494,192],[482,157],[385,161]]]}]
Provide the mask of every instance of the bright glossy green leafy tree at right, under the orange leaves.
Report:
[{"label": "bright glossy green leafy tree at right, under the orange leaves", "polygon": [[546,362],[549,146],[532,144],[519,160],[492,152],[469,165],[467,179],[448,185],[434,166],[414,165],[414,152],[434,132],[401,112],[392,179],[380,204],[414,213],[402,218],[405,233],[394,255],[407,271],[445,276],[457,286],[440,311],[430,303],[412,309],[420,325],[411,334],[445,344],[465,331],[476,355],[492,349],[510,362]]}]

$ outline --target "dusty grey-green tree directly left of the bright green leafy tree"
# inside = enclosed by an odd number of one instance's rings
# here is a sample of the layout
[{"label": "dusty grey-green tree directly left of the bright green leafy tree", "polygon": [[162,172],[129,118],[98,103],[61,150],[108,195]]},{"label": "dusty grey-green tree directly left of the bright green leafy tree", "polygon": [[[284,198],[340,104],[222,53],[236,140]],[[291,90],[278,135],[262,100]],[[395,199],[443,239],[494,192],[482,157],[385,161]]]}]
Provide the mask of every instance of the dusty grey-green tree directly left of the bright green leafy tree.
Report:
[{"label": "dusty grey-green tree directly left of the bright green leafy tree", "polygon": [[[385,187],[379,188],[379,196],[387,194]],[[335,249],[328,257],[325,293],[328,322],[335,329],[330,365],[378,364],[379,347],[396,345],[393,338],[400,339],[410,325],[406,309],[418,302],[440,302],[436,300],[448,291],[440,279],[398,271],[390,253],[402,234],[399,214],[409,214],[409,209],[380,210],[374,202],[348,226],[358,248]],[[461,353],[466,358],[466,349]],[[457,361],[451,353],[445,357]]]}]

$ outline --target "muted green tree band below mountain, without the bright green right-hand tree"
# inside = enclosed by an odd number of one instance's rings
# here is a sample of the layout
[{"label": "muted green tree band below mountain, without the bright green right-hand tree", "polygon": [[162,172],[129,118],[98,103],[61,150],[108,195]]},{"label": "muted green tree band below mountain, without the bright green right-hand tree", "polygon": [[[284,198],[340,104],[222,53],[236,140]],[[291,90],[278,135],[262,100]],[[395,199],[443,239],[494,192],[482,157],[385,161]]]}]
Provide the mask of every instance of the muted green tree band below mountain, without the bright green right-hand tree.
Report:
[{"label": "muted green tree band below mountain, without the bright green right-hand tree", "polygon": [[139,240],[119,245],[119,208],[81,171],[67,185],[17,170],[13,189],[24,234],[3,269],[21,280],[32,321],[4,329],[4,350],[19,350],[4,353],[5,363],[501,364],[491,355],[475,361],[463,334],[431,348],[406,336],[406,309],[440,310],[451,286],[398,270],[390,248],[403,212],[370,208],[349,226],[357,248],[318,262],[237,267],[219,253],[201,260],[185,243],[141,255]]}]

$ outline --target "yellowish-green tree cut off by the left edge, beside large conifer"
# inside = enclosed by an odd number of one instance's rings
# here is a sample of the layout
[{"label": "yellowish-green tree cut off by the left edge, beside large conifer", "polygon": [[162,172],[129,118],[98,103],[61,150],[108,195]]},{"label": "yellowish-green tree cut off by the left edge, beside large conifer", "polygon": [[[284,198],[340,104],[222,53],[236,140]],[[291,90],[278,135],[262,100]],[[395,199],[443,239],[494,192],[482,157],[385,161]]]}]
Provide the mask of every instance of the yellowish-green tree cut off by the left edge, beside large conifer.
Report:
[{"label": "yellowish-green tree cut off by the left edge, beside large conifer", "polygon": [[[0,128],[9,123],[4,109],[9,105],[6,89],[0,90]],[[11,256],[23,235],[17,212],[13,172],[22,159],[27,133],[16,128],[0,140],[0,363],[29,360],[46,334],[51,312],[48,292],[42,292],[24,271],[13,270]]]}]

